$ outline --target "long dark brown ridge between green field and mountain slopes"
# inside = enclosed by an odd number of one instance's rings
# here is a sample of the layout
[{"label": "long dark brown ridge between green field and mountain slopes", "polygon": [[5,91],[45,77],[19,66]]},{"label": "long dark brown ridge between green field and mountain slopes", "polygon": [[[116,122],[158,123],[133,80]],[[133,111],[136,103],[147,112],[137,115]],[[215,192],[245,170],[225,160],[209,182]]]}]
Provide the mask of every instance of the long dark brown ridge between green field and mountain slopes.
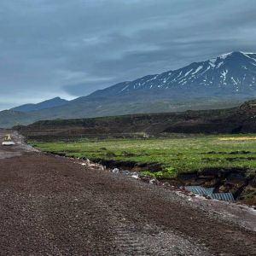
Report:
[{"label": "long dark brown ridge between green field and mountain slopes", "polygon": [[256,132],[256,101],[240,108],[137,114],[96,119],[39,121],[16,127],[29,138],[100,136],[147,132],[240,133]]}]

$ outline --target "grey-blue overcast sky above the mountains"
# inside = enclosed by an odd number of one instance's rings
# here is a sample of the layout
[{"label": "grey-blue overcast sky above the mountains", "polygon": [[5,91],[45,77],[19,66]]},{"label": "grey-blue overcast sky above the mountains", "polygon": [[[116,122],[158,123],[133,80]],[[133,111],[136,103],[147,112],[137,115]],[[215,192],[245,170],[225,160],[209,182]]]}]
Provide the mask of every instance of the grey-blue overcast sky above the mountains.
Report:
[{"label": "grey-blue overcast sky above the mountains", "polygon": [[0,109],[256,52],[253,0],[1,0]]}]

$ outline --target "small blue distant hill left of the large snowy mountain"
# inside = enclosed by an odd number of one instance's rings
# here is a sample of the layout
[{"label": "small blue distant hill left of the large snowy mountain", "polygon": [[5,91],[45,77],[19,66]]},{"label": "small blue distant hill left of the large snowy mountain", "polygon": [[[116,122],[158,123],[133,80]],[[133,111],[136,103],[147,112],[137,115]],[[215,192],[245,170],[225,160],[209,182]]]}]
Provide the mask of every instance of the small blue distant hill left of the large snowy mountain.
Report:
[{"label": "small blue distant hill left of the large snowy mountain", "polygon": [[67,104],[67,102],[68,102],[67,100],[61,99],[60,97],[55,97],[53,99],[50,99],[44,102],[39,102],[37,104],[30,103],[30,104],[21,105],[16,108],[11,108],[11,110],[26,113],[26,112],[32,112],[32,111],[42,110],[46,108],[59,107]]}]

